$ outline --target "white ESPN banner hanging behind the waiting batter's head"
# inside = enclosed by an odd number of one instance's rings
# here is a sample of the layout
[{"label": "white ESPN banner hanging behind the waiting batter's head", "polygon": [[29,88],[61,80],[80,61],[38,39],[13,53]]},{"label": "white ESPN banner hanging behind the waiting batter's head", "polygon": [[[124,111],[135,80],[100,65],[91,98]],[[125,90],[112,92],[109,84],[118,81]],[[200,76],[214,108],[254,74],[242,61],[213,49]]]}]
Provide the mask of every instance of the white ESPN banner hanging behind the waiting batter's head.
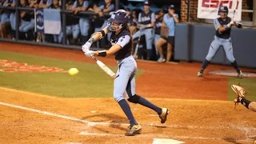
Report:
[{"label": "white ESPN banner hanging behind the waiting batter's head", "polygon": [[233,18],[234,15],[236,21],[241,21],[242,0],[198,0],[198,18],[218,18],[219,6],[227,6],[228,16]]}]

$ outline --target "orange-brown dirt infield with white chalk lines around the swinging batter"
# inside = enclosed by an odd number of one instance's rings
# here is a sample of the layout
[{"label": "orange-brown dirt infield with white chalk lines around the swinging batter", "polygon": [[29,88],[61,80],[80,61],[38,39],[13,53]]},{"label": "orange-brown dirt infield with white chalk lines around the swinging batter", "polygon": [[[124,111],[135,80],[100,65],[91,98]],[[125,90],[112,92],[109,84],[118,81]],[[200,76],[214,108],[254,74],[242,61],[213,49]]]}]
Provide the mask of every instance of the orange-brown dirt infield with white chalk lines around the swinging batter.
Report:
[{"label": "orange-brown dirt infield with white chalk lines around the swinging batter", "polygon": [[[1,42],[0,50],[91,62],[81,51]],[[101,58],[115,65],[112,58]],[[195,77],[199,63],[138,62],[145,70],[138,94],[170,109],[162,125],[152,110],[131,104],[142,134],[124,137],[126,117],[113,98],[55,98],[0,88],[0,143],[152,143],[170,138],[186,143],[248,143],[256,139],[256,115],[226,100],[227,79]],[[210,65],[207,70],[232,70]],[[207,72],[207,71],[206,71]],[[185,100],[186,99],[186,100]],[[189,100],[190,99],[190,100]],[[200,99],[200,100],[193,100]]]}]

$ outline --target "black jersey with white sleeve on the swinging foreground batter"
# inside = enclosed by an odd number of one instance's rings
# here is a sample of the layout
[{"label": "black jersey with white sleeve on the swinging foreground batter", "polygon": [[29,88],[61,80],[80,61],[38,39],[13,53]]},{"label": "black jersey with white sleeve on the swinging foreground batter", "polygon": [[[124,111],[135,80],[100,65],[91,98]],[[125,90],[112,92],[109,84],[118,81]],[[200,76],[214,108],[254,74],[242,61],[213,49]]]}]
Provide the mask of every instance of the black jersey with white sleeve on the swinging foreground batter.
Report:
[{"label": "black jersey with white sleeve on the swinging foreground batter", "polygon": [[116,52],[115,59],[120,60],[130,56],[132,52],[132,38],[130,38],[129,30],[122,30],[118,35],[112,32],[110,42],[113,45],[118,44],[122,49]]}]

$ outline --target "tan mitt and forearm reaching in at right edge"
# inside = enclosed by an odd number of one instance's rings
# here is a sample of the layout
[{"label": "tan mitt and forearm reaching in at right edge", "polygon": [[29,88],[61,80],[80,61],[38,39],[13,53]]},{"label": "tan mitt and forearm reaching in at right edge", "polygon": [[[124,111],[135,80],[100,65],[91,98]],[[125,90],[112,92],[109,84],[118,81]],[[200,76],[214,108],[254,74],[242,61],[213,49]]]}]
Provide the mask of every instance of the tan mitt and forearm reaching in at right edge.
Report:
[{"label": "tan mitt and forearm reaching in at right edge", "polygon": [[246,106],[247,109],[256,112],[256,102],[250,102],[246,99],[246,91],[244,90],[244,88],[237,85],[232,85],[231,88],[236,94],[238,94],[238,98],[234,99],[235,103],[241,102],[242,105]]}]

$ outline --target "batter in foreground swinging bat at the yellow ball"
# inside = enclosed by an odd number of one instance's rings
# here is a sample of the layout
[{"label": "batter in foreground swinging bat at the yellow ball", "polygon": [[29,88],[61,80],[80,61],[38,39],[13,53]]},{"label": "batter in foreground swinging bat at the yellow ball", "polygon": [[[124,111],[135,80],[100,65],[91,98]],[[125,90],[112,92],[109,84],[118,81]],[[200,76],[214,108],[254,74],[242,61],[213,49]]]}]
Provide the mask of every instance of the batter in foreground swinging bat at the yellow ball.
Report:
[{"label": "batter in foreground swinging bat at the yellow ball", "polygon": [[[166,122],[169,110],[155,106],[153,103],[146,100],[146,98],[135,93],[137,64],[131,55],[133,43],[129,27],[127,26],[128,20],[129,18],[125,10],[115,11],[114,14],[111,15],[111,18],[108,19],[107,26],[103,30],[93,34],[92,38],[82,46],[82,50],[87,57],[92,55],[106,57],[107,55],[115,54],[115,59],[118,63],[118,72],[114,79],[114,99],[121,106],[130,121],[130,126],[125,135],[133,136],[138,134],[142,130],[142,127],[136,122],[128,102],[123,97],[124,93],[126,93],[129,102],[138,103],[157,112],[162,123]],[[98,41],[109,32],[111,33],[110,42],[112,44],[110,50],[90,50],[90,46],[93,42]]]}]

